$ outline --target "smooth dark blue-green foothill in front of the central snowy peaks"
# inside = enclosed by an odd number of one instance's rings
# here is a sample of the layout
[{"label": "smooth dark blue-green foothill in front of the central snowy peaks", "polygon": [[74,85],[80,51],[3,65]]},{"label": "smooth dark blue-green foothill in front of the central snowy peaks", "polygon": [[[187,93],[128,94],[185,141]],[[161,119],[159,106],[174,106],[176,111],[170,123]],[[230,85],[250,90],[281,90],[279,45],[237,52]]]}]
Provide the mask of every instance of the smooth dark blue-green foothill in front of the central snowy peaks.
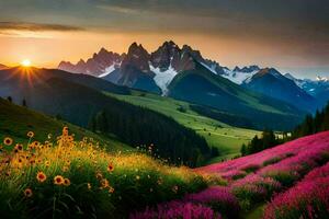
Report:
[{"label": "smooth dark blue-green foothill in front of the central snowy peaks", "polygon": [[235,114],[259,129],[290,129],[304,115],[285,102],[248,91],[197,62],[194,69],[182,71],[173,79],[168,95]]}]

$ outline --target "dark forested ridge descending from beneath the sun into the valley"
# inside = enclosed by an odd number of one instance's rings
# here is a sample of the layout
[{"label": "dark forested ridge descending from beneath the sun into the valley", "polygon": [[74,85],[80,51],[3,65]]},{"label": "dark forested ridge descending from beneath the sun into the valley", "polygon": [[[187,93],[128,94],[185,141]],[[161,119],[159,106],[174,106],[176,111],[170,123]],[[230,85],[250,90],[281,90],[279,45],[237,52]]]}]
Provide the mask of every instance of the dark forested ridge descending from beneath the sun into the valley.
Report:
[{"label": "dark forested ridge descending from beneath the sun into the valley", "polygon": [[[86,74],[57,69],[0,70],[0,95],[14,103],[60,116],[102,135],[114,135],[129,146],[154,143],[162,158],[194,166],[209,157],[204,138],[160,113],[138,107],[105,92],[129,94],[126,87]],[[201,160],[200,160],[201,159]]]}]

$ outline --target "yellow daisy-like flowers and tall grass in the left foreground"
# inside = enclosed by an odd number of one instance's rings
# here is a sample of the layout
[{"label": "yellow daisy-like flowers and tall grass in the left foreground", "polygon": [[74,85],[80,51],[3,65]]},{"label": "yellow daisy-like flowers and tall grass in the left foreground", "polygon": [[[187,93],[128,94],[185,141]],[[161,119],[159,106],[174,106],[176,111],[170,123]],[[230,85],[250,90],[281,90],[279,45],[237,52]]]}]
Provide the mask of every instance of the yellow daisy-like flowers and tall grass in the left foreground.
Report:
[{"label": "yellow daisy-like flowers and tall grass in the left foreground", "polygon": [[188,168],[140,152],[109,153],[94,139],[76,141],[68,127],[45,142],[34,140],[33,131],[27,136],[26,145],[3,139],[1,217],[125,218],[206,187],[205,177]]}]

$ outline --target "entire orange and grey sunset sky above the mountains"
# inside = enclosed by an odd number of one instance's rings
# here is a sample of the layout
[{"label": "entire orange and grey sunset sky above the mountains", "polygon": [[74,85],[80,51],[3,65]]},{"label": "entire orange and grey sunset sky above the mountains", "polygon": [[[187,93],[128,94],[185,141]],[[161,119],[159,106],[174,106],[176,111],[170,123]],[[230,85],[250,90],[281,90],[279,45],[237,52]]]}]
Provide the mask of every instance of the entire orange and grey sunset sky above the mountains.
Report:
[{"label": "entire orange and grey sunset sky above the mountains", "polygon": [[328,0],[0,0],[0,64],[87,59],[101,47],[190,45],[222,66],[329,77]]}]

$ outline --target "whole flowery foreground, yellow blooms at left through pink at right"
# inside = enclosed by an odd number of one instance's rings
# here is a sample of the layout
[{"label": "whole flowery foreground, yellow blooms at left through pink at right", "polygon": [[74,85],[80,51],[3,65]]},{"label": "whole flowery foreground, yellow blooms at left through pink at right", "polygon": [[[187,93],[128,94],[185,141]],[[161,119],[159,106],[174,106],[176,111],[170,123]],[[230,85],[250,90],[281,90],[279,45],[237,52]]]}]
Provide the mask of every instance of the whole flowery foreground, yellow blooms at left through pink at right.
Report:
[{"label": "whole flowery foreground, yellow blooms at left through pink at right", "polygon": [[328,218],[329,132],[200,169],[155,160],[154,146],[109,151],[92,138],[1,143],[4,218]]}]

